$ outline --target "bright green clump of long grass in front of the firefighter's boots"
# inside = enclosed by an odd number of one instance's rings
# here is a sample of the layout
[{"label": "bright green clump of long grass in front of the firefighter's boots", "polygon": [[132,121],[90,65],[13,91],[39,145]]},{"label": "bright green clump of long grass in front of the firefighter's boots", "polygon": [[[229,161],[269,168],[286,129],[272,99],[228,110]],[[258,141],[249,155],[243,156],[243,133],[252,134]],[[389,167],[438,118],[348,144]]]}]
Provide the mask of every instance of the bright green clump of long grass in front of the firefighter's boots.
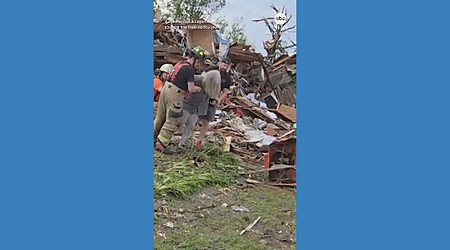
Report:
[{"label": "bright green clump of long grass in front of the firefighter's boots", "polygon": [[156,198],[181,197],[208,186],[227,186],[236,180],[239,160],[220,145],[189,149],[182,155],[155,155]]}]

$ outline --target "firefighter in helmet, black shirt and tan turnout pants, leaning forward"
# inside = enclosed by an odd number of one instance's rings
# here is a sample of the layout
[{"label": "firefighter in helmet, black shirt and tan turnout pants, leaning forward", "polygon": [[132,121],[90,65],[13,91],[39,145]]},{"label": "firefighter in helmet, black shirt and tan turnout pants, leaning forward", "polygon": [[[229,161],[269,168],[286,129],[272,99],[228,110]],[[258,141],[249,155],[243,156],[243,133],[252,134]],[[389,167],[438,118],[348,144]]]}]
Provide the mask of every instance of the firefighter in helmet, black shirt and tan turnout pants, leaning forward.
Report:
[{"label": "firefighter in helmet, black shirt and tan turnout pants, leaning forward", "polygon": [[183,116],[183,98],[188,93],[201,91],[201,87],[194,84],[195,68],[202,64],[207,55],[208,52],[201,47],[189,50],[188,59],[174,66],[164,84],[153,121],[155,150],[173,153],[168,146]]}]

